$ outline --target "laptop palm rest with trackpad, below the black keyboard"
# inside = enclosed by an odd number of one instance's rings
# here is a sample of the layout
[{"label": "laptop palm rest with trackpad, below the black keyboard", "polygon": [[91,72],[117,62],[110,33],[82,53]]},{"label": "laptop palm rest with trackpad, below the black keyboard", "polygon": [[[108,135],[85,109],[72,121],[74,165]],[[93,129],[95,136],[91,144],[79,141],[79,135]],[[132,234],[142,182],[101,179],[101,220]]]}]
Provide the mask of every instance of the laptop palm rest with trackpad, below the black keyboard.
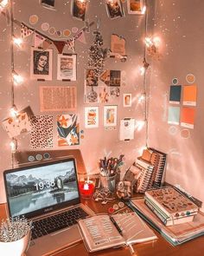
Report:
[{"label": "laptop palm rest with trackpad, below the black keyboard", "polygon": [[68,247],[82,240],[77,225],[70,228],[50,233],[39,239],[30,242],[27,256],[46,255],[60,251],[62,248]]}]

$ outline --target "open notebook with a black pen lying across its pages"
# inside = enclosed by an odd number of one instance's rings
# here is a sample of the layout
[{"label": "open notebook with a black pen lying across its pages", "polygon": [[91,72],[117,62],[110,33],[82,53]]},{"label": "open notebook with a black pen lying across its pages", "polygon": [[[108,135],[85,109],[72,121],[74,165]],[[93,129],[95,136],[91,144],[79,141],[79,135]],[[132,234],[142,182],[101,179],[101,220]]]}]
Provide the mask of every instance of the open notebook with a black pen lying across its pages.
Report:
[{"label": "open notebook with a black pen lying across its pages", "polygon": [[95,215],[79,220],[80,233],[88,252],[155,240],[156,234],[137,213]]}]

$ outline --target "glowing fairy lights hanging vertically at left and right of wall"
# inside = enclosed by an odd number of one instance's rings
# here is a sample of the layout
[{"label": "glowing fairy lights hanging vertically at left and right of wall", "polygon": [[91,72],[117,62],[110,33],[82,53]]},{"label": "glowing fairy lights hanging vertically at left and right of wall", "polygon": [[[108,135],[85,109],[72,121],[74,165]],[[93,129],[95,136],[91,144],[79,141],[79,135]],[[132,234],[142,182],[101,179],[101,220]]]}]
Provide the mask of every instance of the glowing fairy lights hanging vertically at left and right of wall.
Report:
[{"label": "glowing fairy lights hanging vertically at left and right of wall", "polygon": [[[81,0],[83,2],[84,0]],[[112,2],[113,0],[107,0],[107,2]],[[147,37],[148,35],[148,10],[146,1],[143,1],[143,9],[141,14],[144,15],[144,48],[143,48],[143,64],[139,68],[140,75],[143,75],[143,93],[140,95],[138,102],[143,102],[144,104],[144,120],[137,121],[137,130],[140,130],[145,125],[145,146],[148,147],[148,96],[147,96],[147,70],[150,67],[150,63],[147,62],[147,55],[154,56],[157,54],[158,47],[160,44],[160,39],[156,36]],[[10,10],[10,65],[11,65],[11,108],[10,108],[10,116],[16,121],[18,121],[18,111],[15,105],[15,87],[17,85],[22,84],[23,77],[19,75],[15,70],[15,60],[14,60],[14,45],[18,48],[22,47],[22,38],[16,37],[14,35],[14,16],[13,16],[13,0],[2,0],[0,1],[0,12],[4,9],[8,8]],[[15,137],[11,138],[10,141],[10,150],[13,154],[16,152],[17,149],[17,140]]]}]

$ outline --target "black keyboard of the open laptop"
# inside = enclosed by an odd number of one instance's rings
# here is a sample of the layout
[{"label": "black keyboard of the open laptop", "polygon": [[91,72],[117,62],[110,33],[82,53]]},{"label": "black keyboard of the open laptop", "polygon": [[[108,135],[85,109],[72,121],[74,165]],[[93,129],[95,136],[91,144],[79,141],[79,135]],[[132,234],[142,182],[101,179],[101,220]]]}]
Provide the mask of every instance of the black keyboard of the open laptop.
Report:
[{"label": "black keyboard of the open laptop", "polygon": [[73,208],[67,212],[59,213],[54,216],[49,216],[46,219],[36,220],[33,222],[31,239],[35,240],[48,233],[61,230],[68,226],[73,226],[77,220],[83,219],[88,214],[80,207]]}]

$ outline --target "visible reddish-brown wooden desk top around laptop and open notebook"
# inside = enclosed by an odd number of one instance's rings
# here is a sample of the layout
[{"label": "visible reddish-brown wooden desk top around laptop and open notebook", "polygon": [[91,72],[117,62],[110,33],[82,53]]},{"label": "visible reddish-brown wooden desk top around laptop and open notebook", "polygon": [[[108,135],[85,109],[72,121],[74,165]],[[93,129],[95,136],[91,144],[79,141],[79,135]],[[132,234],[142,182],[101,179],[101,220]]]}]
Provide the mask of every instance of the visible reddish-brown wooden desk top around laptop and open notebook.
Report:
[{"label": "visible reddish-brown wooden desk top around laptop and open notebook", "polygon": [[[92,200],[83,200],[83,202],[92,208],[95,213],[107,213],[108,207],[112,207],[113,203],[109,203],[102,206],[99,202],[96,203]],[[6,217],[5,214],[5,204],[0,205],[0,219]],[[181,246],[171,246],[169,242],[163,239],[163,237],[155,231],[158,240],[141,243],[134,245],[134,249],[137,253],[135,256],[203,256],[204,255],[204,236],[197,238],[195,240],[188,241]],[[92,255],[107,255],[107,256],[131,256],[129,248],[118,248],[118,249],[108,249],[105,251],[100,251],[99,253],[91,253]],[[86,248],[81,241],[79,244],[67,248],[60,253],[52,254],[54,256],[68,256],[68,255],[78,255],[78,256],[90,256],[91,254],[86,252]],[[40,255],[36,255],[40,256]]]}]

